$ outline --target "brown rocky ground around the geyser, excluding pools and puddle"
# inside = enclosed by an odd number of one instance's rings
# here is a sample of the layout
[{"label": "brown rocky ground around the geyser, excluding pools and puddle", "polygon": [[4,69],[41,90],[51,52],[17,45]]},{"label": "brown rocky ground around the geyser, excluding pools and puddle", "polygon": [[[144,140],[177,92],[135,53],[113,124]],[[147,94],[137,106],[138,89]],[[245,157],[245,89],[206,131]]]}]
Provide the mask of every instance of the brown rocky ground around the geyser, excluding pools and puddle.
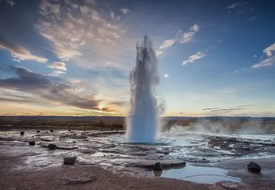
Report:
[{"label": "brown rocky ground around the geyser, excluding pools and puddle", "polygon": [[[230,151],[230,154],[238,156],[251,151],[251,147],[255,147],[252,148],[254,152],[260,153],[263,150],[274,152],[274,142],[209,138],[206,143],[210,149],[198,147],[193,154],[200,154],[199,156],[205,158],[179,159],[171,156],[170,153],[179,151],[180,147],[171,149],[161,148],[164,146],[162,143],[146,145],[108,141],[109,135],[123,133],[120,131],[41,131],[40,133],[26,131],[24,135],[19,133],[20,131],[2,132],[0,135],[0,187],[4,190],[275,189],[275,180],[273,180],[275,179],[275,166],[272,164],[274,159],[253,159],[252,157],[241,159],[238,157],[225,162],[208,162],[215,158],[217,153],[211,152],[211,148],[219,147],[221,150]],[[30,141],[35,141],[36,144],[28,145]],[[74,141],[77,141],[77,144],[74,144]],[[56,145],[56,149],[48,148],[51,143]],[[205,147],[205,144],[199,143],[194,143],[192,147]],[[63,165],[63,157],[70,155],[72,150],[73,155],[78,157],[77,163],[70,166]],[[228,171],[227,175],[239,177],[241,183],[218,182],[207,185],[146,176],[144,169],[152,169],[157,161],[162,163],[165,170],[174,167],[184,168],[185,161],[187,165],[224,168]],[[251,173],[247,170],[247,164],[250,161],[262,167],[261,173]]]}]

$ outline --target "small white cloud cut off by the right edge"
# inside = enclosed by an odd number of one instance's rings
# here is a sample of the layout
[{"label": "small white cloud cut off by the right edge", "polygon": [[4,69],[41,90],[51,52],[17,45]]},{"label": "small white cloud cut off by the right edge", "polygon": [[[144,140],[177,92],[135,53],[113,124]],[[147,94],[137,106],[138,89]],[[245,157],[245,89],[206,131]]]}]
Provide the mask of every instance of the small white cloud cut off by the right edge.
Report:
[{"label": "small white cloud cut off by the right edge", "polygon": [[[268,57],[267,59],[262,60],[260,63],[252,65],[252,68],[267,67],[275,64],[275,44],[265,48],[263,53]],[[255,57],[255,55],[254,55]]]}]

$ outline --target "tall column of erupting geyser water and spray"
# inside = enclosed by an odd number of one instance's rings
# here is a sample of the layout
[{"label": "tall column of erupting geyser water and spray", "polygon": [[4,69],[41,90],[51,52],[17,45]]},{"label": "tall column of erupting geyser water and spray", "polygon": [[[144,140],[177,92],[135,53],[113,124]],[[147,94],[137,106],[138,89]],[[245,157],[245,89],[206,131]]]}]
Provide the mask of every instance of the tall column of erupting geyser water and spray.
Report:
[{"label": "tall column of erupting geyser water and spray", "polygon": [[130,71],[131,111],[127,136],[132,142],[154,142],[159,128],[155,86],[159,84],[157,59],[147,36],[137,43],[136,67]]}]

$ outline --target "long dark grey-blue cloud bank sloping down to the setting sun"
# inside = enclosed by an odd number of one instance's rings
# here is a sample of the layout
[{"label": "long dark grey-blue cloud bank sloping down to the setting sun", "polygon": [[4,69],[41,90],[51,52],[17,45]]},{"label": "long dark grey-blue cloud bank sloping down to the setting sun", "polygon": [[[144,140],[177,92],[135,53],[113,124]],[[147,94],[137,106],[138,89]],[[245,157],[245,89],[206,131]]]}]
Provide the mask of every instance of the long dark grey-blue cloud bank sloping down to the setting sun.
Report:
[{"label": "long dark grey-blue cloud bank sloping down to the setting sun", "polygon": [[[31,93],[43,99],[83,109],[100,110],[98,108],[100,100],[94,99],[94,95],[81,97],[75,93],[74,86],[66,83],[58,77],[37,74],[23,67],[11,67],[11,70],[14,71],[18,77],[0,79],[0,88]],[[15,98],[14,96],[13,98],[1,98],[1,100],[13,102],[32,101],[27,100],[27,98],[18,98]],[[102,111],[110,110],[105,108]]]}]

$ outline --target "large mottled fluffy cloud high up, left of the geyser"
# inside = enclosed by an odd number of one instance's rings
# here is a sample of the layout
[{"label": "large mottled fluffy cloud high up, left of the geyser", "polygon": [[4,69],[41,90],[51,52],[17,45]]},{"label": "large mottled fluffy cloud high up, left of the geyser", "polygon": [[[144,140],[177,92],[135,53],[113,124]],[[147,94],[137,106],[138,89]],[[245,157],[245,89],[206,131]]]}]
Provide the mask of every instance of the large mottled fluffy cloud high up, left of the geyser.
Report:
[{"label": "large mottled fluffy cloud high up, left of the geyser", "polygon": [[[111,18],[107,21],[108,15],[104,12],[95,10],[95,1],[83,4],[66,0],[62,7],[59,2],[43,0],[39,7],[41,19],[35,24],[36,31],[51,42],[55,55],[62,62],[72,60],[79,66],[82,66],[80,60],[90,59],[90,52],[93,60],[110,59],[110,54],[114,55],[117,49],[114,46],[122,42],[125,30],[117,22],[112,23]],[[118,20],[112,11],[110,15]]]}]

